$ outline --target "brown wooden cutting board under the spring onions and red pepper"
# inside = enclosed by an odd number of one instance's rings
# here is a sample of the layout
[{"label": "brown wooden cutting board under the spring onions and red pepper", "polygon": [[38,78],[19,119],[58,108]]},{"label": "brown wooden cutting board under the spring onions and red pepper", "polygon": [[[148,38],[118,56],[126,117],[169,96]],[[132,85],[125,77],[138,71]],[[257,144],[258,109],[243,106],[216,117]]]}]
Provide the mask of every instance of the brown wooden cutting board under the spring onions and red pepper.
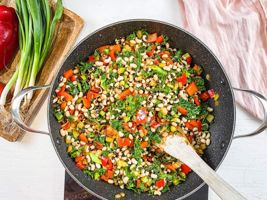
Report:
[{"label": "brown wooden cutting board under the spring onions and red pepper", "polygon": [[[49,0],[51,19],[54,17],[56,10],[56,2]],[[14,0],[2,0],[0,5],[6,5],[15,7]],[[47,85],[52,82],[54,74],[56,73],[61,62],[68,54],[70,49],[72,49],[75,41],[77,40],[84,25],[83,19],[77,14],[71,12],[70,10],[63,8],[63,13],[61,19],[57,22],[54,37],[44,61],[43,67],[37,75],[35,85]],[[3,85],[9,81],[12,77],[14,70],[16,69],[17,63],[19,61],[19,51],[14,54],[13,58],[9,62],[7,69],[0,72],[0,82]],[[28,124],[36,111],[39,103],[41,103],[46,91],[48,89],[36,90],[33,95],[32,104],[28,107],[27,113],[29,115],[28,119],[25,121]],[[7,96],[7,102],[11,102],[12,93],[14,91],[14,86],[11,88],[11,92]],[[1,120],[0,116],[0,120]],[[19,130],[18,126],[8,130],[6,127],[0,124],[0,136],[7,139],[8,141],[15,142],[17,139],[23,135],[23,131]]]}]

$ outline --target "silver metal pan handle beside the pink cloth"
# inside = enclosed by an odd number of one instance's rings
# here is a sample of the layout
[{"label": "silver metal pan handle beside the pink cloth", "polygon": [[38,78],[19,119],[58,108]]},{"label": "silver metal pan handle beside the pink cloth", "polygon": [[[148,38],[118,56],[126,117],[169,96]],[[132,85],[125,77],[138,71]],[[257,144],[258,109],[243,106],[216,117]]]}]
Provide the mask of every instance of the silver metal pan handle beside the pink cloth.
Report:
[{"label": "silver metal pan handle beside the pink cloth", "polygon": [[259,133],[261,133],[262,131],[264,131],[267,128],[267,99],[262,96],[260,93],[254,91],[254,90],[248,90],[248,89],[239,89],[239,88],[235,88],[233,87],[234,90],[237,91],[241,91],[241,92],[246,92],[249,94],[252,94],[254,97],[256,97],[260,102],[261,105],[263,107],[263,111],[264,111],[264,116],[263,116],[263,120],[262,123],[260,125],[260,127],[258,127],[258,129],[256,131],[253,131],[252,133],[246,134],[246,135],[237,135],[235,137],[233,137],[233,139],[235,138],[245,138],[245,137],[251,137],[254,135],[258,135]]}]

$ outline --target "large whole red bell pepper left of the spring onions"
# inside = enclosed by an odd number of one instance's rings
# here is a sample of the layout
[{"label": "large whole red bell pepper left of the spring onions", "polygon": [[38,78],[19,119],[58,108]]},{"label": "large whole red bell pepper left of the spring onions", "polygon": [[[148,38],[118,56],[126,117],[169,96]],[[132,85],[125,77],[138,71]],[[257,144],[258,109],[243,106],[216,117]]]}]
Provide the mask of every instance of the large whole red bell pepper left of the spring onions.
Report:
[{"label": "large whole red bell pepper left of the spring onions", "polygon": [[0,71],[18,46],[18,17],[13,7],[0,5]]}]

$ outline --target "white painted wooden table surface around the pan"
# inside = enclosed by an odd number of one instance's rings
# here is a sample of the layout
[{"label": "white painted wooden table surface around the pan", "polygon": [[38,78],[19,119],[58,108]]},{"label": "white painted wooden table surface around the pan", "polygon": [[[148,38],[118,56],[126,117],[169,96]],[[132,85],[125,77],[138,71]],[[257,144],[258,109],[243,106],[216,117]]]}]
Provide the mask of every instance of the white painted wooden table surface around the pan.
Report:
[{"label": "white painted wooden table surface around the pan", "polygon": [[[176,0],[63,0],[63,4],[85,21],[78,41],[102,26],[124,19],[157,19],[182,27]],[[141,6],[151,8],[144,11]],[[47,95],[35,114],[32,128],[48,131],[46,107]],[[259,125],[260,121],[237,105],[235,135],[250,133]],[[250,200],[267,199],[266,133],[234,140],[217,171]],[[65,170],[50,137],[27,134],[21,142],[14,143],[0,138],[0,152],[0,199],[63,199]],[[209,199],[219,198],[210,190]]]}]

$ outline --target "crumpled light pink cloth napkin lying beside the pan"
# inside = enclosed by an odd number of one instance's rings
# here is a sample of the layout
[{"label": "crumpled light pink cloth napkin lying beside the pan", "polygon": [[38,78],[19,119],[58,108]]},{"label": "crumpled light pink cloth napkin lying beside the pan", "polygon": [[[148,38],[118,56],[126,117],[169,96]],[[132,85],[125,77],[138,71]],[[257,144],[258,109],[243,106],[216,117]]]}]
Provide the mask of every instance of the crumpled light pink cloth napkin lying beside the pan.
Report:
[{"label": "crumpled light pink cloth napkin lying beside the pan", "polygon": [[[233,87],[267,94],[267,2],[261,0],[178,0],[183,27],[218,57]],[[222,101],[223,99],[221,99]],[[260,102],[235,91],[235,100],[258,119]]]}]

